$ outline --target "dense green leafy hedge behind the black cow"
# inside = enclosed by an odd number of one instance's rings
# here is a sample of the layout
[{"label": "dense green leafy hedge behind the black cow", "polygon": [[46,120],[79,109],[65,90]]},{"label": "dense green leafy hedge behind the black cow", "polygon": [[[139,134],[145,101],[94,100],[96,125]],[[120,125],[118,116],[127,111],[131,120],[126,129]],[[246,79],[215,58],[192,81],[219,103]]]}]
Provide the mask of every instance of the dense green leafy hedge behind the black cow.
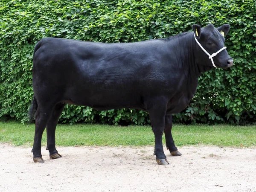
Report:
[{"label": "dense green leafy hedge behind the black cow", "polygon": [[[0,117],[25,122],[33,95],[32,53],[43,37],[134,42],[166,38],[192,24],[229,23],[231,69],[199,79],[198,91],[175,122],[256,121],[256,3],[253,0],[0,0]],[[67,105],[62,122],[149,123],[143,111],[94,111]]]}]

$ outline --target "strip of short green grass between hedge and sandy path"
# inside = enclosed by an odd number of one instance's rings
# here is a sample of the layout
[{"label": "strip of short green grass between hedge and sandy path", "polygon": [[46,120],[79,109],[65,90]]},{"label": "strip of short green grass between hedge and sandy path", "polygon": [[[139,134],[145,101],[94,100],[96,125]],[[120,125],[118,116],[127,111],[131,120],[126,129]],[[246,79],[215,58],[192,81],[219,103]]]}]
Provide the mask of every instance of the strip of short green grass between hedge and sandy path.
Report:
[{"label": "strip of short green grass between hedge and sandy path", "polygon": [[[34,124],[0,122],[0,143],[32,146],[34,130]],[[174,125],[172,135],[176,146],[198,144],[232,147],[256,146],[256,126]],[[46,145],[46,143],[46,131],[44,131],[42,145]],[[164,136],[163,143],[165,143]],[[56,145],[154,145],[154,134],[149,126],[58,124]]]}]

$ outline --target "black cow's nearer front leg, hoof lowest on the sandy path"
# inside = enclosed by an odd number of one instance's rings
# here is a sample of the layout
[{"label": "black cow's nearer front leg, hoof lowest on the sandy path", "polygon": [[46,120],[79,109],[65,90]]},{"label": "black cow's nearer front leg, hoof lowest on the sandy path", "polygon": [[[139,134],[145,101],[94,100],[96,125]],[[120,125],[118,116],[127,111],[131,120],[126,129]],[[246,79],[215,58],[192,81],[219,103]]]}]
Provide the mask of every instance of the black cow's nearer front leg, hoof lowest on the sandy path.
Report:
[{"label": "black cow's nearer front leg, hoof lowest on the sandy path", "polygon": [[162,136],[164,131],[164,121],[166,114],[167,101],[165,98],[157,98],[151,100],[149,105],[149,116],[152,126],[152,131],[155,136],[155,148],[154,155],[156,155],[156,160],[159,165],[168,165],[166,155],[163,152]]}]

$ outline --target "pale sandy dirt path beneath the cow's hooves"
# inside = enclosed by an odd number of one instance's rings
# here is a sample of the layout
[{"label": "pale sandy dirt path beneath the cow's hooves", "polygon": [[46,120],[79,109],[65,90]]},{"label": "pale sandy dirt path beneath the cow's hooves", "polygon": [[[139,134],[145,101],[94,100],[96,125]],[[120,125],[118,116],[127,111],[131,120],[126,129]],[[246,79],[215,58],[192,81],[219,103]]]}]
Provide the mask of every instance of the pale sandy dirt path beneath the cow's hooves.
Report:
[{"label": "pale sandy dirt path beneath the cow's hooves", "polygon": [[59,147],[33,163],[31,148],[0,144],[1,192],[256,192],[256,148],[180,147],[169,166],[153,147]]}]

